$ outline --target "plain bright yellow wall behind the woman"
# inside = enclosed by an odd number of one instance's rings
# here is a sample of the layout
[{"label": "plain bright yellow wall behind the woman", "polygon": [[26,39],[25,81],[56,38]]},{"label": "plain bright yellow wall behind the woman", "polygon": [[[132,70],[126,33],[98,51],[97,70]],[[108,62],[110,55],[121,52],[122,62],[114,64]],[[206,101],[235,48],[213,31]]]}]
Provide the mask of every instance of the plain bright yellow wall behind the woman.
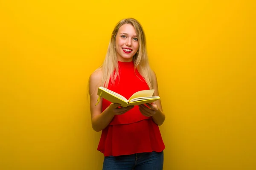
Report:
[{"label": "plain bright yellow wall behind the woman", "polygon": [[164,169],[255,170],[253,0],[0,0],[0,169],[102,168],[87,80],[125,17],[157,73]]}]

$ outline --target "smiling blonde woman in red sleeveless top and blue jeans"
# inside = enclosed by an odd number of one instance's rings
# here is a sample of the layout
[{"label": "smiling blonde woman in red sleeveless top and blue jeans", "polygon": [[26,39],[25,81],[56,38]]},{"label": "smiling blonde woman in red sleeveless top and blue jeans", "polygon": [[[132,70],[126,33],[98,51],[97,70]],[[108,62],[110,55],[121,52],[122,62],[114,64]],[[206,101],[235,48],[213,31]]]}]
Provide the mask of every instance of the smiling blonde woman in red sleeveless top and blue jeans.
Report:
[{"label": "smiling blonde woman in red sleeveless top and blue jeans", "polygon": [[122,108],[101,99],[95,105],[100,86],[127,99],[148,89],[159,96],[157,77],[148,63],[145,34],[137,20],[117,23],[103,65],[90,76],[91,122],[95,131],[102,130],[98,150],[105,156],[103,170],[162,170],[165,145],[158,126],[165,114],[160,100]]}]

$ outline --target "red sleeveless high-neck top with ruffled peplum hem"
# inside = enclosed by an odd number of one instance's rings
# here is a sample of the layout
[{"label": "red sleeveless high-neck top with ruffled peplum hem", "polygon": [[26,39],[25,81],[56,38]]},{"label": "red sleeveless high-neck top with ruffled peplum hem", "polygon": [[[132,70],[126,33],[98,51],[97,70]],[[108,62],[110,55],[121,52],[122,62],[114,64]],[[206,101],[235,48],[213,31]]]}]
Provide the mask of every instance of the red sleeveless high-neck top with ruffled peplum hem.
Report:
[{"label": "red sleeveless high-neck top with ruffled peplum hem", "polygon": [[[129,99],[132,94],[148,90],[148,85],[136,70],[134,63],[118,62],[119,78],[108,89]],[[102,100],[102,111],[111,104]],[[130,155],[143,152],[161,152],[165,148],[159,127],[152,117],[143,116],[139,107],[134,106],[130,111],[115,115],[110,124],[102,130],[97,150],[104,156]]]}]

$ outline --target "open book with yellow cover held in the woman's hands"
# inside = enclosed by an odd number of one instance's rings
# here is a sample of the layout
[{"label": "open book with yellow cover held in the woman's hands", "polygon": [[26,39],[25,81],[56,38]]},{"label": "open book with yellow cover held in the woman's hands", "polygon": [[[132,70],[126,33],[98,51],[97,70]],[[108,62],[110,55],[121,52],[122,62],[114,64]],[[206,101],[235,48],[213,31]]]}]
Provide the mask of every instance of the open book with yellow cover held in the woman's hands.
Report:
[{"label": "open book with yellow cover held in the woman's hands", "polygon": [[[122,107],[127,107],[129,105],[141,105],[145,103],[152,103],[160,99],[159,96],[153,96],[153,94],[154,94],[154,89],[137,91],[130,97],[130,99],[126,99],[124,96],[117,94],[107,88],[104,88],[104,87],[98,88],[99,99],[100,97],[102,97],[112,103],[119,103],[121,104]],[[98,99],[98,103],[99,103],[99,99]]]}]

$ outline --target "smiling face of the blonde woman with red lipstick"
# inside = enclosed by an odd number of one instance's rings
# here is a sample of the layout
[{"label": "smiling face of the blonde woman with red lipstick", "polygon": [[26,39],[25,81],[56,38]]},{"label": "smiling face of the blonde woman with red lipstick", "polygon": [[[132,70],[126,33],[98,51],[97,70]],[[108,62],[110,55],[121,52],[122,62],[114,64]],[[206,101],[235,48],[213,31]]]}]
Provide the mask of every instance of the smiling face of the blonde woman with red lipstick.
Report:
[{"label": "smiling face of the blonde woman with red lipstick", "polygon": [[116,34],[117,60],[131,62],[139,49],[138,37],[131,24],[122,25]]}]

